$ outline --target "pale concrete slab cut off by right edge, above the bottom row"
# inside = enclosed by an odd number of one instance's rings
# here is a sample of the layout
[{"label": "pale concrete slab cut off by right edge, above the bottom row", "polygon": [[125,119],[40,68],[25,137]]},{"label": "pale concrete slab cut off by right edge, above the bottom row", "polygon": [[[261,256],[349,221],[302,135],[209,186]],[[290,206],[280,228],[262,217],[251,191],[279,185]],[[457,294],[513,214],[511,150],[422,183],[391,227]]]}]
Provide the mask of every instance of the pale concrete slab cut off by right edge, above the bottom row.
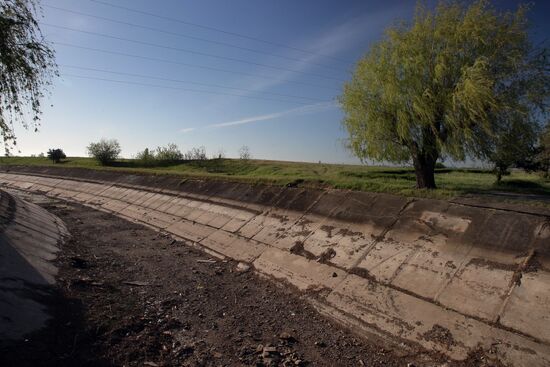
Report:
[{"label": "pale concrete slab cut off by right edge, above the bottom row", "polygon": [[[550,273],[524,273],[512,291],[500,323],[550,343]],[[549,346],[550,348],[550,346]]]}]

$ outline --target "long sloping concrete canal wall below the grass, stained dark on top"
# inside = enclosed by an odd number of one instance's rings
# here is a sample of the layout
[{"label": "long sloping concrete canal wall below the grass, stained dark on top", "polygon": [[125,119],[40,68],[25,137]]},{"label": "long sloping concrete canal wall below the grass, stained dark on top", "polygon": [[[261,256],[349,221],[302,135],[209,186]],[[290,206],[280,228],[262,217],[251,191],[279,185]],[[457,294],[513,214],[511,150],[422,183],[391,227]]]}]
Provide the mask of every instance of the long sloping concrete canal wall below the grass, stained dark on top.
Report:
[{"label": "long sloping concrete canal wall below the grass, stained dark on top", "polygon": [[[384,194],[20,168],[0,182],[136,220],[317,290],[363,332],[550,365],[550,217]],[[441,345],[441,326],[456,343]]]}]

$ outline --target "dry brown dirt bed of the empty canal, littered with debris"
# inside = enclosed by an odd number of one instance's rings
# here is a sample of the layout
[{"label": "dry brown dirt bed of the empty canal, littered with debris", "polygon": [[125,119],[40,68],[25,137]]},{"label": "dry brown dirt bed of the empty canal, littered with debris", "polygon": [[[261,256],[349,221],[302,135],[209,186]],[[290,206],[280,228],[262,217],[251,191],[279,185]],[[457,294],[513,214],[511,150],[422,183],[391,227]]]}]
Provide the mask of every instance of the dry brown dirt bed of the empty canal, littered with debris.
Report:
[{"label": "dry brown dirt bed of the empty canal, littered with debris", "polygon": [[[113,215],[43,204],[71,238],[48,327],[0,366],[454,366],[356,337],[290,287]],[[460,365],[484,365],[473,355]]]}]

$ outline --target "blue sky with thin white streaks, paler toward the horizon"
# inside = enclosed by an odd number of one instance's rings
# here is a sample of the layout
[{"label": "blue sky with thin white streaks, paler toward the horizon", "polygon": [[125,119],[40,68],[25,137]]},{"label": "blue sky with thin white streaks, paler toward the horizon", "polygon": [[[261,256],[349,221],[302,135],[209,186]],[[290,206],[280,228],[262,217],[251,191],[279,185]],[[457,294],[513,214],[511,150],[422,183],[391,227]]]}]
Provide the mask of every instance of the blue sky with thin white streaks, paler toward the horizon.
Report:
[{"label": "blue sky with thin white streaks, paler toward the horizon", "polygon": [[[37,133],[16,155],[85,156],[101,138],[122,156],[175,143],[209,156],[358,163],[337,97],[354,64],[413,0],[42,0],[60,77]],[[433,3],[428,1],[429,4]],[[516,1],[495,0],[514,9]],[[531,12],[542,40],[550,2]]]}]

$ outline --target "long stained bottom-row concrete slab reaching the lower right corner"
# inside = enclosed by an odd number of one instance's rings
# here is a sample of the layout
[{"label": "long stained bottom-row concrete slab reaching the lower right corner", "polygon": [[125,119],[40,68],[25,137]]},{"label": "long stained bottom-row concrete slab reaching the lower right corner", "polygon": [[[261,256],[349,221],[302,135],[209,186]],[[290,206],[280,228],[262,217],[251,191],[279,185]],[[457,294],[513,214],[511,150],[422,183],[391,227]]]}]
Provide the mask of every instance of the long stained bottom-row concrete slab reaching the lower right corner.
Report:
[{"label": "long stained bottom-row concrete slab reaching the lower right corner", "polygon": [[[464,359],[470,350],[481,347],[496,350],[499,358],[513,366],[550,363],[545,345],[355,275],[348,275],[326,301],[341,312],[337,318],[353,317],[381,334],[419,343],[453,359]],[[445,338],[432,338],[433,333]]]}]

